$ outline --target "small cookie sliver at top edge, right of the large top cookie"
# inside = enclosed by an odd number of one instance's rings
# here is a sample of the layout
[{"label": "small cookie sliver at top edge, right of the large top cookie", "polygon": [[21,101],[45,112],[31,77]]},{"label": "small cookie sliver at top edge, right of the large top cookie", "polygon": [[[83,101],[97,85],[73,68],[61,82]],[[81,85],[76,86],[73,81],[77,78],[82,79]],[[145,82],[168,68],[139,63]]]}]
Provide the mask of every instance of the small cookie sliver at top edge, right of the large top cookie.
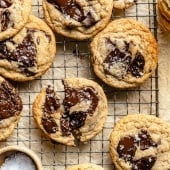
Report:
[{"label": "small cookie sliver at top edge, right of the large top cookie", "polygon": [[113,0],[113,8],[125,9],[136,4],[136,0]]}]

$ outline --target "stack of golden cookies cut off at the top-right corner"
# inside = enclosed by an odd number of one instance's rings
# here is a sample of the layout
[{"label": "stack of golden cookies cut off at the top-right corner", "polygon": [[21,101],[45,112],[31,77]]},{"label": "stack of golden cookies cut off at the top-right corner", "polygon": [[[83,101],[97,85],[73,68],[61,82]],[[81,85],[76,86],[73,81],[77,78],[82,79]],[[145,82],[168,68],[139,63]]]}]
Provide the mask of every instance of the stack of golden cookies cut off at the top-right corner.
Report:
[{"label": "stack of golden cookies cut off at the top-right corner", "polygon": [[159,25],[164,31],[170,32],[170,1],[158,0]]}]

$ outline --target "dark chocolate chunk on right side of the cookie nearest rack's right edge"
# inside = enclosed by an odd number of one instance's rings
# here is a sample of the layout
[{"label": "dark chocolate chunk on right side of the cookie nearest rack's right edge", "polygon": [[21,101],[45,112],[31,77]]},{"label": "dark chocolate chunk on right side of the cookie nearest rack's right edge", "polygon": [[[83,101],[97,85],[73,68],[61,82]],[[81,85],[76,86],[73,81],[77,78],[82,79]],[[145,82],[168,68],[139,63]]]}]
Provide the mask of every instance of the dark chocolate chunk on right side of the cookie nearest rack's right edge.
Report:
[{"label": "dark chocolate chunk on right side of the cookie nearest rack's right edge", "polygon": [[141,54],[136,54],[135,59],[129,67],[129,71],[135,77],[141,77],[145,66],[145,60]]}]

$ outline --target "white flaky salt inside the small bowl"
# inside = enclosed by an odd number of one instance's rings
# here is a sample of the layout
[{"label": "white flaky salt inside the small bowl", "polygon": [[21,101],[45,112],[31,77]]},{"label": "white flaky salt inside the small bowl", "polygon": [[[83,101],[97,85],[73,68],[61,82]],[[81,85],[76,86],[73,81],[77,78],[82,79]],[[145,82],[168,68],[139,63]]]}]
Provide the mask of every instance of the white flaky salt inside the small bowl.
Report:
[{"label": "white flaky salt inside the small bowl", "polygon": [[0,170],[36,170],[36,167],[30,157],[16,152],[5,159]]}]

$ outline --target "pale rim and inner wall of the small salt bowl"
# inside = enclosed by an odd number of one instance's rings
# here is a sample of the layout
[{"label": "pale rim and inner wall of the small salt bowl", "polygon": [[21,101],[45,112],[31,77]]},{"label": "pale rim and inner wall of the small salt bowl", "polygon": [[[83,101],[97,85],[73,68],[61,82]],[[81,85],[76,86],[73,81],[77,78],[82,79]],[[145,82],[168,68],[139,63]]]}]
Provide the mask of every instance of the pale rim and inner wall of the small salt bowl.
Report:
[{"label": "pale rim and inner wall of the small salt bowl", "polygon": [[35,164],[36,170],[42,170],[41,161],[38,156],[30,149],[21,146],[7,146],[0,149],[0,166],[4,163],[5,159],[14,154],[15,152],[21,152],[30,157]]}]

